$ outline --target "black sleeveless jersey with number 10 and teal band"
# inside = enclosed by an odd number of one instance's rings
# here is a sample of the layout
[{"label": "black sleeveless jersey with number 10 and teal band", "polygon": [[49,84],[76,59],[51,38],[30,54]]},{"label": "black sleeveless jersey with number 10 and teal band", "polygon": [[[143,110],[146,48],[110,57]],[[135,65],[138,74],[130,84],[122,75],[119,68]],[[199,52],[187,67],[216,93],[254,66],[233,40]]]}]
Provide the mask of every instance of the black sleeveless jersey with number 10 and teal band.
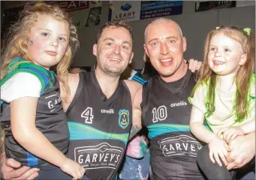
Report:
[{"label": "black sleeveless jersey with number 10 and teal band", "polygon": [[202,178],[197,167],[202,145],[189,129],[188,96],[196,82],[190,70],[179,81],[179,87],[173,87],[156,75],[143,86],[142,122],[149,130],[154,179]]}]

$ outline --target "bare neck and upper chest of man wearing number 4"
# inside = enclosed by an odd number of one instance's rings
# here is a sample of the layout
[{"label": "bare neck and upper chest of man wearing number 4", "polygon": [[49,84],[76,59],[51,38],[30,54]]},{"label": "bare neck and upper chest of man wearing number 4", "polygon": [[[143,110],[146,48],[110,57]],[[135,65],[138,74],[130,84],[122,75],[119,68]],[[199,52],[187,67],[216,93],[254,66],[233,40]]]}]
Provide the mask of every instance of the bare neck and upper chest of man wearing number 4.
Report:
[{"label": "bare neck and upper chest of man wearing number 4", "polygon": [[95,76],[98,84],[100,84],[102,92],[107,96],[107,99],[109,99],[116,91],[120,76],[110,76],[98,68],[95,69]]}]

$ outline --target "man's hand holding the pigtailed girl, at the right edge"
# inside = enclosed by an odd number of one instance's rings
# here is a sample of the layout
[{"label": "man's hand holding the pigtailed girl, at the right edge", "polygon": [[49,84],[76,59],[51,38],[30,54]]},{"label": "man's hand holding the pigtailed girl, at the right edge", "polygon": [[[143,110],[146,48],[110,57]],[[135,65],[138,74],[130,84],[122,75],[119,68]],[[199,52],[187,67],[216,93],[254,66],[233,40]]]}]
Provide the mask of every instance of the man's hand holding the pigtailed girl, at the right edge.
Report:
[{"label": "man's hand holding the pigtailed girl, at the right edge", "polygon": [[229,161],[227,169],[243,167],[255,156],[255,132],[238,136],[236,139],[231,140],[228,145],[231,152],[227,158],[227,161]]}]

